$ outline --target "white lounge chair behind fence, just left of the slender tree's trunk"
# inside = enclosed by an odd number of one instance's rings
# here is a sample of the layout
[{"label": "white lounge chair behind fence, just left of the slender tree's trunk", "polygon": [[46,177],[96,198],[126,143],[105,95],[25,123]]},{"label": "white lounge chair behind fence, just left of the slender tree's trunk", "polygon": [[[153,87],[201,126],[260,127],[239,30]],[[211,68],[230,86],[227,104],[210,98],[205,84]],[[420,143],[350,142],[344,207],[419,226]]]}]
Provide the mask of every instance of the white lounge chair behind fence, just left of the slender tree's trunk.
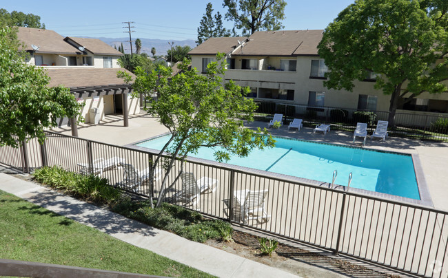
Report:
[{"label": "white lounge chair behind fence, just left of the slender tree's trunk", "polygon": [[[127,163],[121,164],[121,167],[123,167],[124,178],[122,182],[119,182],[119,185],[126,189],[139,192],[141,191],[143,184],[150,180],[150,167],[143,171],[139,171],[138,169],[135,169],[132,164]],[[161,169],[159,168],[154,171],[154,182],[159,180],[160,173]]]}]

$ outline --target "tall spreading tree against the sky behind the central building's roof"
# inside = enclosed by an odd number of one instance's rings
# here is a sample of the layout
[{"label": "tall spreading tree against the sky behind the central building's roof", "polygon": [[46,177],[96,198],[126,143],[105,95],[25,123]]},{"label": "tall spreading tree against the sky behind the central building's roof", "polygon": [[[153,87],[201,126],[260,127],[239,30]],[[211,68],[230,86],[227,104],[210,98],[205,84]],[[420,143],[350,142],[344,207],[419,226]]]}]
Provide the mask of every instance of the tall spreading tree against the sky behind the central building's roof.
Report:
[{"label": "tall spreading tree against the sky behind the central building's roof", "polygon": [[223,3],[223,8],[227,8],[225,19],[234,21],[243,35],[284,28],[281,20],[285,19],[285,6],[284,0],[224,0]]}]

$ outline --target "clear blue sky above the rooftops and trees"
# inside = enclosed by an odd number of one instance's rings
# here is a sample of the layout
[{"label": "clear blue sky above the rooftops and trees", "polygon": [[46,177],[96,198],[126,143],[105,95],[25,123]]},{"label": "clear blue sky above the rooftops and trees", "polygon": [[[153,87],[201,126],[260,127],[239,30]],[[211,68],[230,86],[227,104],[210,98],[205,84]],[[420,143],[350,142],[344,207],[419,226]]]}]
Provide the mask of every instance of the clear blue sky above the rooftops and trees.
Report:
[{"label": "clear blue sky above the rooftops and trees", "polygon": [[[225,14],[222,0],[159,1],[8,1],[0,8],[41,17],[47,29],[63,36],[119,38],[128,36],[123,21],[132,23],[132,39],[197,39],[199,21],[211,2],[214,12]],[[354,0],[289,0],[285,8],[284,30],[324,29]],[[232,23],[225,22],[232,28]]]}]

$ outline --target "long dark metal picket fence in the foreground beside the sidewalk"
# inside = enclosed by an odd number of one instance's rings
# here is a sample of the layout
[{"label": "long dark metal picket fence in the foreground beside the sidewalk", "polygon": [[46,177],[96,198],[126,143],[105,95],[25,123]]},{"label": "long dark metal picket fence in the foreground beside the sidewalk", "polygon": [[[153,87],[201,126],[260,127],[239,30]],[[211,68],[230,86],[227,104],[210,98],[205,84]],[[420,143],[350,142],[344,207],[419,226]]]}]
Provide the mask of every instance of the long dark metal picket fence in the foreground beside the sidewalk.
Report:
[{"label": "long dark metal picket fence in the foreground beside the sidewalk", "polygon": [[[19,170],[60,165],[70,171],[79,171],[87,164],[94,171],[95,165],[99,163],[101,166],[101,159],[119,158],[132,165],[139,174],[150,167],[158,167],[162,174],[165,173],[162,162],[158,165],[150,163],[155,155],[150,151],[58,133],[47,132],[47,136],[42,145],[33,140],[26,144],[28,162],[23,159],[23,151],[8,147],[0,148],[0,162]],[[168,178],[169,183],[175,180],[181,163],[183,171],[193,173],[199,180],[199,187],[205,186],[201,178],[208,178],[210,190],[199,189],[196,195],[183,200],[179,194],[185,193],[186,189],[179,179],[167,193],[165,202],[414,275],[448,276],[448,264],[445,264],[448,261],[447,211],[198,160],[177,161]],[[123,167],[112,167],[101,174],[111,185],[123,190],[159,197],[160,178],[154,182],[139,182],[131,189],[121,183]],[[257,207],[251,204],[249,196],[258,192],[265,195],[261,197],[260,209],[254,211]]]}]

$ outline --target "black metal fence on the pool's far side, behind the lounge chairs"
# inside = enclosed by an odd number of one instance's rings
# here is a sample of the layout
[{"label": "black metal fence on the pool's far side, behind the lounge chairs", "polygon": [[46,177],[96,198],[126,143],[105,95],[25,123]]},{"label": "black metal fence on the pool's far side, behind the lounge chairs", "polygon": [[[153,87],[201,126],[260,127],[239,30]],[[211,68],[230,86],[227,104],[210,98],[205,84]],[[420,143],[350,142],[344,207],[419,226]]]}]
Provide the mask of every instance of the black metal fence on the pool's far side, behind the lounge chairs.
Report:
[{"label": "black metal fence on the pool's far side, behind the lounge chairs", "polygon": [[[309,107],[289,103],[272,103],[256,101],[258,109],[255,119],[269,121],[275,113],[283,114],[284,123],[294,118],[303,119],[303,124],[314,127],[319,122],[332,125],[332,129],[353,132],[356,122],[367,122],[369,133],[374,131],[378,120],[387,120],[389,111],[367,111],[357,109],[341,109],[338,107]],[[416,138],[448,142],[448,116],[446,114],[411,114],[397,112],[396,127],[389,127],[389,136]]]}]

